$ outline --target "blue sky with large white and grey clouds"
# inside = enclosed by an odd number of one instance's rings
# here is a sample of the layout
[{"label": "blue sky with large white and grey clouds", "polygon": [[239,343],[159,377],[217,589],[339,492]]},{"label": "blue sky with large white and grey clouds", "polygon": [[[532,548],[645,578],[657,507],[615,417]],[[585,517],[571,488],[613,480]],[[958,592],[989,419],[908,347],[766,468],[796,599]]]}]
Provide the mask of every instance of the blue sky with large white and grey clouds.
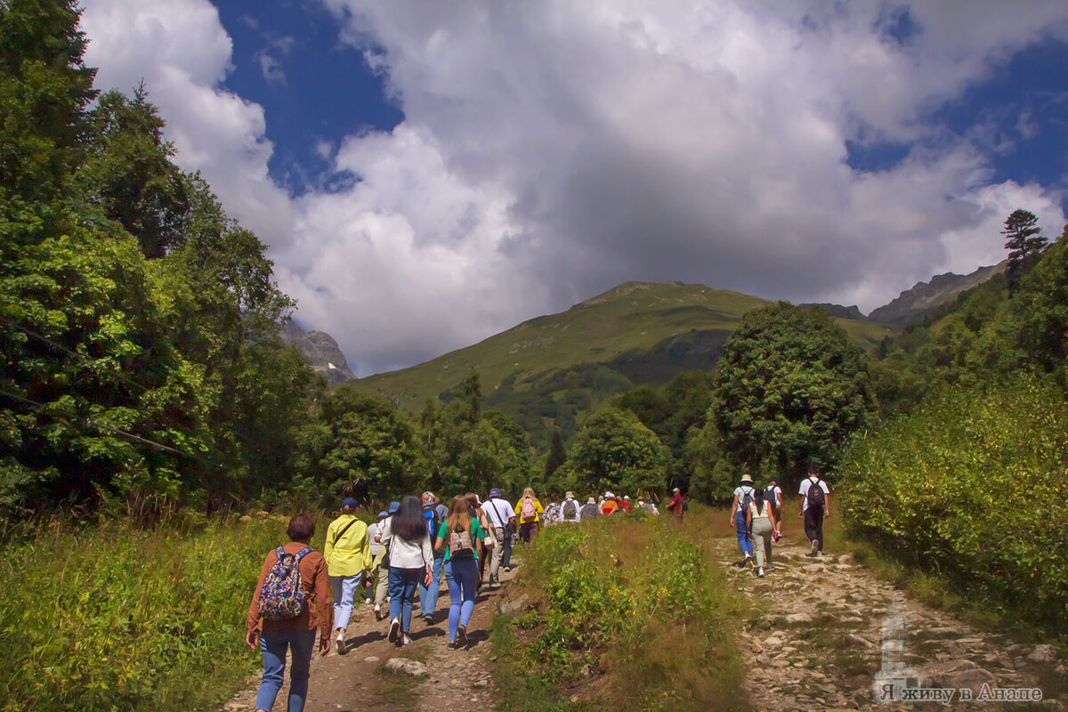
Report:
[{"label": "blue sky with large white and grey clouds", "polygon": [[1064,0],[82,0],[360,376],[628,281],[858,304],[1068,208]]}]

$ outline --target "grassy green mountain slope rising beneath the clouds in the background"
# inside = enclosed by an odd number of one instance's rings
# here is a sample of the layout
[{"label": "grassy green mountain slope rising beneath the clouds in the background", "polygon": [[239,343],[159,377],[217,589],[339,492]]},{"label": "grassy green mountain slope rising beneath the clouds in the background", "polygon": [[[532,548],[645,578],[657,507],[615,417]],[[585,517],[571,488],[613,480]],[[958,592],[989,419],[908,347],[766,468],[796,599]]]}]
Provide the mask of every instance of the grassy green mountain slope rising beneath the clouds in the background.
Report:
[{"label": "grassy green mountain slope rising beneath the clouds in the background", "polygon": [[[570,432],[580,415],[635,385],[711,369],[745,312],[769,303],[701,284],[627,282],[566,312],[524,321],[426,363],[349,381],[415,413],[471,370],[487,408],[517,418],[540,440],[555,424]],[[835,319],[858,346],[890,330],[864,319]]]}]

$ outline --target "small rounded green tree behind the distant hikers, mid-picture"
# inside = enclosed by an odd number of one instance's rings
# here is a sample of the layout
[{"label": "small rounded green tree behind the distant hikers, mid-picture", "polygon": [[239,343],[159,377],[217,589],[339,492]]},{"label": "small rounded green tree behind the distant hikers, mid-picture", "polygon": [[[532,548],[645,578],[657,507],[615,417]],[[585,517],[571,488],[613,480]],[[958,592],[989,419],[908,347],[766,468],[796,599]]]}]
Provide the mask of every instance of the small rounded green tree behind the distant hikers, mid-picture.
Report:
[{"label": "small rounded green tree behind the distant hikers, mid-picture", "polygon": [[656,433],[630,411],[606,408],[575,437],[567,468],[583,491],[661,491],[669,453]]}]

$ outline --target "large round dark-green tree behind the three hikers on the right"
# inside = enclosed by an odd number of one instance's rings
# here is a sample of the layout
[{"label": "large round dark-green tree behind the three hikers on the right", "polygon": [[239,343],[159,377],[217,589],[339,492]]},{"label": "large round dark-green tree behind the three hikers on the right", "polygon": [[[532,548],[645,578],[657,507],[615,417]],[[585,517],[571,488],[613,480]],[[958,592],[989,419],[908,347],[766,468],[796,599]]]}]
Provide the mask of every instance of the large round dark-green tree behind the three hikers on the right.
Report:
[{"label": "large round dark-green tree behind the three hikers on the right", "polygon": [[820,308],[786,302],[742,317],[716,371],[724,452],[797,479],[828,466],[871,406],[860,352]]}]

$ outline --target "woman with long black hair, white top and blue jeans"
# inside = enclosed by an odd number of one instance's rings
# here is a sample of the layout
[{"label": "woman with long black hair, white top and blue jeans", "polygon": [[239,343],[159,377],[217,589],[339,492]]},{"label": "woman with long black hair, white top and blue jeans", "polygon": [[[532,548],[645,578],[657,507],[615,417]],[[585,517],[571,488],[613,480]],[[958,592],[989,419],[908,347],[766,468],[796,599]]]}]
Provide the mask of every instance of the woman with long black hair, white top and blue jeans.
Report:
[{"label": "woman with long black hair, white top and blue jeans", "polygon": [[386,520],[382,541],[390,552],[390,643],[411,643],[411,605],[420,583],[434,581],[434,554],[423,506],[414,494],[400,499],[397,512]]}]

